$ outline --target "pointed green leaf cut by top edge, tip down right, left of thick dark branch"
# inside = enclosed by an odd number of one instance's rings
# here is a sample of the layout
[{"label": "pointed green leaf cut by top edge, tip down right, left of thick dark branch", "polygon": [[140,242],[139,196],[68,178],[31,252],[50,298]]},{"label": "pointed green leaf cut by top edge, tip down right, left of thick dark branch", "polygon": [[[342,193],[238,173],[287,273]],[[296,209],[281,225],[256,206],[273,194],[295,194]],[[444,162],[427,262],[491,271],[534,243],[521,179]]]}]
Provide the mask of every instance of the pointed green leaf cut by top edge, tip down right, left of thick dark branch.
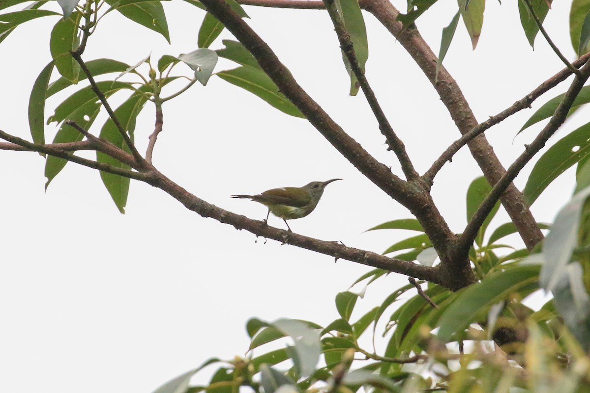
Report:
[{"label": "pointed green leaf cut by top edge, tip down right, left of thick dark branch", "polygon": [[[166,14],[160,1],[146,1],[129,5],[116,6],[116,0],[106,0],[107,4],[119,11],[126,18],[162,34],[170,44],[170,33]],[[109,10],[110,11],[110,10]]]}]

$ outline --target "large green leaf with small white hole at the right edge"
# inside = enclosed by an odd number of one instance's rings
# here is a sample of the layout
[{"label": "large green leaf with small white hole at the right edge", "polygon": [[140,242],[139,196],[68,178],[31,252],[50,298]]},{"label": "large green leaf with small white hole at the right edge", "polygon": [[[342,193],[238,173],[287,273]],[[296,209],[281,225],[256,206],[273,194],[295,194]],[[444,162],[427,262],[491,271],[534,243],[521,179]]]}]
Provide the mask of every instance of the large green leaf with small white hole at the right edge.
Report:
[{"label": "large green leaf with small white hole at the right edge", "polygon": [[564,136],[536,162],[523,195],[530,206],[547,186],[573,164],[590,154],[590,123]]}]

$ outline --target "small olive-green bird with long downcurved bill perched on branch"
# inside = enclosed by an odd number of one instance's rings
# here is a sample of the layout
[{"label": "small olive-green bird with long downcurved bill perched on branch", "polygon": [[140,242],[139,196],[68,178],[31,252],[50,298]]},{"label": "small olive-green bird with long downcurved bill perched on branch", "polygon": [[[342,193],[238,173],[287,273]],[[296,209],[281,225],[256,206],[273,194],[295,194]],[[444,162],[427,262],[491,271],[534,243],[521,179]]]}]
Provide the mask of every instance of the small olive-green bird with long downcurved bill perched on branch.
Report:
[{"label": "small olive-green bird with long downcurved bill perched on branch", "polygon": [[317,202],[322,198],[324,188],[333,181],[342,179],[330,179],[327,181],[312,181],[303,187],[282,187],[273,188],[261,192],[258,195],[232,195],[232,198],[251,199],[254,202],[263,204],[268,208],[268,214],[264,222],[268,222],[268,216],[272,213],[282,218],[289,232],[291,227],[287,224],[288,219],[306,217],[316,208]]}]

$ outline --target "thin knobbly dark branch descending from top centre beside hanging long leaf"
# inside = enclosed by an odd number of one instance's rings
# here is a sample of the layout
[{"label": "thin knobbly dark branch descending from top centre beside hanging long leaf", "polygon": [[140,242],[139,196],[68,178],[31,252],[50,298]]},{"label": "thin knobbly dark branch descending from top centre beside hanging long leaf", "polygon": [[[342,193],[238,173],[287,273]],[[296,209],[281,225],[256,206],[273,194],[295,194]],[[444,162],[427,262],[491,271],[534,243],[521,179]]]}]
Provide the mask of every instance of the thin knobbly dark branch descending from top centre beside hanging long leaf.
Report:
[{"label": "thin knobbly dark branch descending from top centre beside hanging long leaf", "polygon": [[338,41],[340,42],[340,48],[344,52],[348,62],[350,64],[350,69],[355,74],[356,79],[359,81],[360,88],[362,89],[363,93],[365,94],[365,98],[371,106],[371,110],[373,111],[373,115],[377,119],[379,124],[379,129],[381,133],[385,136],[387,144],[389,146],[388,150],[393,150],[395,155],[399,159],[399,163],[401,164],[402,170],[408,180],[416,179],[419,177],[418,172],[414,169],[414,165],[412,165],[412,161],[409,159],[408,153],[406,152],[404,142],[398,138],[395,134],[394,129],[389,124],[383,109],[381,109],[381,105],[379,105],[379,101],[375,96],[375,92],[369,85],[369,81],[365,76],[365,71],[359,64],[358,57],[356,56],[354,43],[350,41],[350,35],[348,31],[346,31],[346,27],[342,18],[340,18],[340,14],[336,9],[336,4],[334,0],[324,0],[324,4],[326,4],[326,9],[328,14],[330,14],[330,18],[332,19],[332,23],[334,24],[336,35],[338,36]]}]

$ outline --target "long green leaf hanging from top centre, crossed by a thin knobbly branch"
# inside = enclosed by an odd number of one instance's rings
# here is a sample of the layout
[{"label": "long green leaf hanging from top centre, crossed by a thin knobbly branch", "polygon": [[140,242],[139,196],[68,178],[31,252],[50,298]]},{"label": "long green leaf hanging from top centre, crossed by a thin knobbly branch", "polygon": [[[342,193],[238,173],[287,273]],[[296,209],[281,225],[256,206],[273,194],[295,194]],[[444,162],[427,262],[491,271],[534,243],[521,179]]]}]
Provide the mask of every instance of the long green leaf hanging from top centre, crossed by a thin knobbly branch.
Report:
[{"label": "long green leaf hanging from top centre, crossed by a thin knobbly branch", "polygon": [[[335,5],[340,18],[342,18],[346,32],[350,35],[350,41],[352,41],[359,66],[365,72],[365,64],[369,58],[369,44],[367,41],[365,19],[363,19],[363,14],[360,11],[358,0],[336,0]],[[352,69],[350,69],[348,58],[346,58],[344,53],[342,54],[342,58],[346,66],[346,71],[350,76],[350,95],[356,95],[359,91],[358,80]]]}]

